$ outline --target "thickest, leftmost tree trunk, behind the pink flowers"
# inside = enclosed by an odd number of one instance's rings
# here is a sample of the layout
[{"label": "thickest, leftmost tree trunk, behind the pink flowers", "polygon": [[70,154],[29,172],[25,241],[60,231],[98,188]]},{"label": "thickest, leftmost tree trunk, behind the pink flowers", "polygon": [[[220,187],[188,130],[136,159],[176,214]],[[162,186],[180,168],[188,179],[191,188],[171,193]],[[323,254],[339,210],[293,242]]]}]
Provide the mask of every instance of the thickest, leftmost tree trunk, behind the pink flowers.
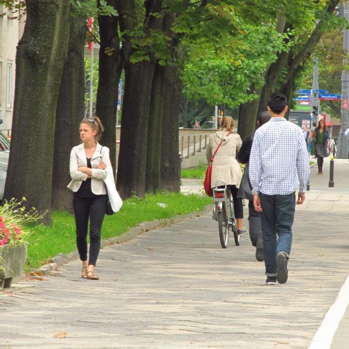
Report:
[{"label": "thickest, leftmost tree trunk, behind the pink flowers", "polygon": [[69,0],[27,0],[27,19],[16,54],[12,141],[4,198],[27,198],[27,207],[50,223],[53,137],[68,44]]}]

